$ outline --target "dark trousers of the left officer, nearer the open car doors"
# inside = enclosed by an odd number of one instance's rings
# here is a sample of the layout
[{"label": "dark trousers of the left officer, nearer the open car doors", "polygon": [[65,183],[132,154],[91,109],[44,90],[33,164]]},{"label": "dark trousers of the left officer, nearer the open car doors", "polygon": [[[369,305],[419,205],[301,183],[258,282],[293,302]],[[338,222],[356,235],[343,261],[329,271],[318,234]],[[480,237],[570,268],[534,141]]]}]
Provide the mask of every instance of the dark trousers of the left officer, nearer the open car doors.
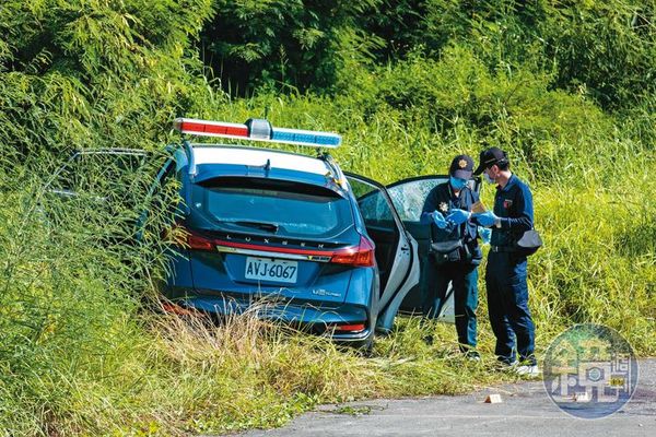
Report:
[{"label": "dark trousers of the left officer, nearer the open car doors", "polygon": [[476,347],[476,308],[478,306],[478,265],[447,262],[435,265],[426,262],[426,288],[423,312],[436,318],[446,299],[448,283],[454,287],[454,311],[456,332],[462,352]]}]

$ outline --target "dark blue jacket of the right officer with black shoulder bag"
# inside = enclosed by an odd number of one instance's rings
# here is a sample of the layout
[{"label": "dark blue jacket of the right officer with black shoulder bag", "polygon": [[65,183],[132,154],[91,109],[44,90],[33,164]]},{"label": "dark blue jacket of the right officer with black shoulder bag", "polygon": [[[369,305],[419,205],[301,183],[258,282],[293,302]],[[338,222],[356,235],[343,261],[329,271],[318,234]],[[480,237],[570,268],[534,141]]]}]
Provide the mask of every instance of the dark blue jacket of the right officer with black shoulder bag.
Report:
[{"label": "dark blue jacket of the right officer with black shoulder bag", "polygon": [[528,186],[512,175],[505,187],[496,187],[494,214],[501,217],[501,227],[492,227],[492,246],[512,246],[534,226],[532,194]]}]

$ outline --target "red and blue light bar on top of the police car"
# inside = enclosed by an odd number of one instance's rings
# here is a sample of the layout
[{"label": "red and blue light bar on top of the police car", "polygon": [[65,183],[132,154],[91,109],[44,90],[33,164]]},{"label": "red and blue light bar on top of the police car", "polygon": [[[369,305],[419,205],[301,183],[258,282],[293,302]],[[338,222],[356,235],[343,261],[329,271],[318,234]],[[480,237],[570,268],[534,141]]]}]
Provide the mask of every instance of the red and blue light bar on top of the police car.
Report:
[{"label": "red and blue light bar on top of the police car", "polygon": [[268,141],[328,149],[335,149],[341,144],[341,135],[337,133],[273,128],[269,121],[258,118],[251,118],[244,125],[197,120],[194,118],[176,118],[173,126],[180,133],[201,137]]}]

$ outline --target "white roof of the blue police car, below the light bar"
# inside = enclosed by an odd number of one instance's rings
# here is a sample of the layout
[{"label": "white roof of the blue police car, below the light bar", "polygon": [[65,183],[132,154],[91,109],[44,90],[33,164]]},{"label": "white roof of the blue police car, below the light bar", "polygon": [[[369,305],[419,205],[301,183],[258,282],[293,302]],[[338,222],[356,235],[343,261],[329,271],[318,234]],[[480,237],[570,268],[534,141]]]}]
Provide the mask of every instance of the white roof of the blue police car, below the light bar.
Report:
[{"label": "white roof of the blue police car, below the light bar", "polygon": [[323,160],[269,149],[195,144],[194,158],[196,165],[233,164],[262,166],[267,162],[270,162],[272,168],[306,172],[323,176],[330,172],[330,168]]}]

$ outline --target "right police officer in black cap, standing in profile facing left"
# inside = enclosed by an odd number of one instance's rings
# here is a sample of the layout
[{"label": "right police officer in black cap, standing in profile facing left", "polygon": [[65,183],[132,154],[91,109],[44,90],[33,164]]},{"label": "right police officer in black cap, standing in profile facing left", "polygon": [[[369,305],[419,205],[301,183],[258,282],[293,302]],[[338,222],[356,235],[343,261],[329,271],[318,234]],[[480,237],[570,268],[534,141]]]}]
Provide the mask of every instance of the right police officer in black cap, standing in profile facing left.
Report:
[{"label": "right police officer in black cap, standing in profile facing left", "polygon": [[518,237],[534,226],[532,194],[528,186],[511,173],[508,158],[499,147],[481,152],[475,175],[481,173],[488,182],[497,185],[494,211],[473,214],[480,225],[492,227],[485,284],[490,323],[496,336],[495,354],[502,363],[518,364],[517,373],[537,375],[535,324],[528,309],[527,262],[526,257],[513,248]]}]

